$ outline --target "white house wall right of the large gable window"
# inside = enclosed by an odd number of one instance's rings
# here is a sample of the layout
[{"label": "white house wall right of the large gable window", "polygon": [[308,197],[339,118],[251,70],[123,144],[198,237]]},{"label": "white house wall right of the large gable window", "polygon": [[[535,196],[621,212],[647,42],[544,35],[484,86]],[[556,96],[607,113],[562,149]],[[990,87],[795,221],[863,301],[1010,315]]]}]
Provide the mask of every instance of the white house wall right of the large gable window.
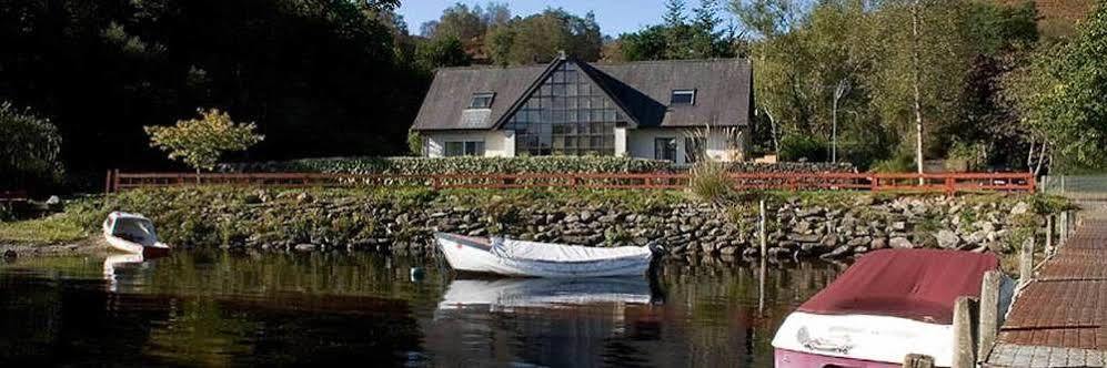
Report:
[{"label": "white house wall right of the large gable window", "polygon": [[[626,152],[631,157],[654,159],[654,140],[658,137],[676,139],[676,162],[687,163],[684,154],[684,139],[692,136],[695,129],[635,129],[626,132]],[[712,129],[707,139],[707,155],[717,161],[743,161],[748,142],[749,130],[742,130],[737,149],[727,144],[727,137],[721,129]],[[617,139],[617,135],[616,135]],[[616,143],[617,144],[617,143]]]}]

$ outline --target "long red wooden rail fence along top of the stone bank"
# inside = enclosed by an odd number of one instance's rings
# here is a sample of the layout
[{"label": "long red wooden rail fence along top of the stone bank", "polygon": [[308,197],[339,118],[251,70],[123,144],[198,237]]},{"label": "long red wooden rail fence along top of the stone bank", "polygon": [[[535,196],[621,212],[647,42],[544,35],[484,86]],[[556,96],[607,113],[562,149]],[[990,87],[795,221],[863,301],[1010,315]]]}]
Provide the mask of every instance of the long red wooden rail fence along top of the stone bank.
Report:
[{"label": "long red wooden rail fence along top of the stone bank", "polygon": [[[1030,192],[1028,173],[732,173],[738,190],[853,190],[908,192]],[[427,186],[432,188],[572,187],[597,190],[675,190],[688,186],[687,173],[604,174],[322,174],[322,173],[121,173],[109,171],[104,187],[117,192],[137,187],[238,185],[265,187]]]}]

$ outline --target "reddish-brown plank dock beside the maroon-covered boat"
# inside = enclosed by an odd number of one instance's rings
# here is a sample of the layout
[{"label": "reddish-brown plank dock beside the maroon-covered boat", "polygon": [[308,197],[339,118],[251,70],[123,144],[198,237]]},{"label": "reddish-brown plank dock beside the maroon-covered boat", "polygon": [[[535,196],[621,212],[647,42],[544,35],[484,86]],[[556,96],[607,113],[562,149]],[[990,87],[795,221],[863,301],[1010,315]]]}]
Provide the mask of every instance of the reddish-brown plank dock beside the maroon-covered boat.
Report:
[{"label": "reddish-brown plank dock beside the maroon-covered boat", "polygon": [[985,367],[1107,364],[1107,216],[1087,217],[1022,289]]}]

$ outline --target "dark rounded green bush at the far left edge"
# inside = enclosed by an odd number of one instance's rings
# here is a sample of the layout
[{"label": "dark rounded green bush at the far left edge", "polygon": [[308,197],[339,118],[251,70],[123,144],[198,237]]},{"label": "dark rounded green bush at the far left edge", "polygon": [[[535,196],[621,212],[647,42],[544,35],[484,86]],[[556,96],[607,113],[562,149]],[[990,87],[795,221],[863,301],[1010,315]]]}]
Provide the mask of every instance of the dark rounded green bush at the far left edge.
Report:
[{"label": "dark rounded green bush at the far left edge", "polygon": [[58,183],[64,174],[61,136],[50,120],[0,102],[0,188]]}]

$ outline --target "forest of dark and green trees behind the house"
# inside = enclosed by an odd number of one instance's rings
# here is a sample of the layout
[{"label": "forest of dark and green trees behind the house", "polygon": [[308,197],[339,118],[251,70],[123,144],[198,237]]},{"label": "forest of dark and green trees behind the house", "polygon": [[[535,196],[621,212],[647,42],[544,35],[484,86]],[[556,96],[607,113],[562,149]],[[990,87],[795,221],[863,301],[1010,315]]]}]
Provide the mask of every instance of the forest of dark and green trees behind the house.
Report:
[{"label": "forest of dark and green trees behind the house", "polygon": [[748,58],[753,142],[785,160],[1097,170],[1107,9],[1049,3],[667,0],[657,24],[605,34],[593,13],[495,2],[457,3],[411,32],[400,0],[0,0],[0,170],[10,186],[181,168],[142,126],[198,109],[265,136],[232,160],[403,155],[434,69],[560,50],[597,62]]}]

